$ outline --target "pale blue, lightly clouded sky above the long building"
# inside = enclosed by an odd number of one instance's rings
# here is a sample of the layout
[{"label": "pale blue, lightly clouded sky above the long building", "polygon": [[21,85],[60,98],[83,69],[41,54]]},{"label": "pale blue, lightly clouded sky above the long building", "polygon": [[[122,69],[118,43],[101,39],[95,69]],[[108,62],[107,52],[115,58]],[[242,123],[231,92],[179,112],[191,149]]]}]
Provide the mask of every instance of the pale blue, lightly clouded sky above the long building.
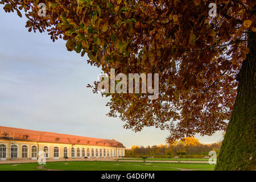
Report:
[{"label": "pale blue, lightly clouded sky above the long building", "polygon": [[[28,32],[25,18],[0,6],[0,125],[23,129],[115,139],[126,147],[165,143],[168,131],[123,129],[106,116],[108,99],[86,88],[101,70],[88,57],[69,52],[63,40]],[[212,143],[221,132],[199,138]]]}]

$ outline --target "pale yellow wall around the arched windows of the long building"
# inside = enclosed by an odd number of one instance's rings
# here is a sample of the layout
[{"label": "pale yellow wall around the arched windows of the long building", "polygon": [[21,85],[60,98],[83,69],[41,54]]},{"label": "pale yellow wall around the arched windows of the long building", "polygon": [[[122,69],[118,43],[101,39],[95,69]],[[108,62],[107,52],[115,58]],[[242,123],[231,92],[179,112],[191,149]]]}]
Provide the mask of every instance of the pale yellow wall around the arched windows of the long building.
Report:
[{"label": "pale yellow wall around the arched windows of the long building", "polygon": [[[118,148],[118,147],[105,147],[105,146],[89,146],[89,145],[80,145],[75,144],[60,144],[60,143],[37,143],[37,142],[26,142],[26,141],[15,141],[15,140],[0,140],[0,145],[5,144],[6,146],[6,160],[10,159],[10,148],[11,144],[16,144],[18,146],[18,158],[17,159],[24,159],[22,158],[22,146],[26,145],[28,147],[28,159],[31,159],[31,148],[32,146],[36,146],[38,151],[43,151],[43,147],[48,147],[48,158],[53,159],[53,148],[59,147],[59,159],[63,159],[64,156],[64,147],[68,148],[68,158],[72,158],[72,147],[75,148],[75,158],[77,158],[77,148],[80,148],[80,158],[82,158],[82,148],[85,148],[85,156],[87,156],[87,148],[90,151],[90,158],[92,158],[92,148],[94,149],[94,158],[96,158],[96,148],[98,149],[98,158],[100,158],[100,149],[102,149],[102,158],[104,158],[104,149],[106,150],[106,158],[108,158],[108,150],[109,150],[109,158],[110,157],[118,157],[119,155],[125,155],[125,148]],[[119,155],[118,155],[119,149]],[[113,151],[113,156],[111,156],[111,150]],[[114,150],[116,155],[114,155]],[[27,158],[26,158],[27,159]]]}]

